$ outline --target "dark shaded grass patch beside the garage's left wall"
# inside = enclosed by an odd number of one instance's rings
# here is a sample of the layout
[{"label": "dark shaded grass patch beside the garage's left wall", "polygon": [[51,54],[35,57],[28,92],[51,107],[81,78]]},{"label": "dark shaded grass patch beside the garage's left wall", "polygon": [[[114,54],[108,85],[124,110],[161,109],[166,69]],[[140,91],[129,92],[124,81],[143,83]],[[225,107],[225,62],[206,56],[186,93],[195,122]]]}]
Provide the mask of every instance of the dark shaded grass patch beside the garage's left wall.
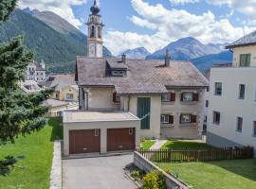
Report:
[{"label": "dark shaded grass patch beside the garage's left wall", "polygon": [[55,140],[63,140],[64,131],[62,125],[62,117],[51,117],[48,118],[48,126],[52,127],[52,132],[50,136],[50,141],[54,142]]}]

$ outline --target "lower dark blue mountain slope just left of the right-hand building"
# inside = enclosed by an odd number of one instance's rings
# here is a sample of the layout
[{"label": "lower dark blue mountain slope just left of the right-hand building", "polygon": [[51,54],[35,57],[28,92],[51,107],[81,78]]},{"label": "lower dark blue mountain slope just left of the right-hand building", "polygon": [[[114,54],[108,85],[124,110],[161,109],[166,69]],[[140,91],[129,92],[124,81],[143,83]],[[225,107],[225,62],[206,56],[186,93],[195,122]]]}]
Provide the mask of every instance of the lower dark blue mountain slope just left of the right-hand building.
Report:
[{"label": "lower dark blue mountain slope just left of the right-hand building", "polygon": [[219,54],[206,55],[191,61],[201,72],[205,73],[213,64],[232,62],[232,53],[230,51],[224,51]]}]

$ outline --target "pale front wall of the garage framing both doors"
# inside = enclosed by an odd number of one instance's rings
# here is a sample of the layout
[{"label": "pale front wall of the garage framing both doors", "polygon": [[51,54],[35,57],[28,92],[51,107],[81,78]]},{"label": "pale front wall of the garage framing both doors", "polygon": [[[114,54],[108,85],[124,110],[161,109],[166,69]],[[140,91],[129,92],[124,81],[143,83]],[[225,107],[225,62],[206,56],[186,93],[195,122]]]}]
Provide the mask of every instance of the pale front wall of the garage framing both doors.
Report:
[{"label": "pale front wall of the garage framing both doors", "polygon": [[64,123],[64,155],[69,155],[69,130],[101,129],[101,153],[107,152],[107,129],[136,128],[136,147],[139,148],[140,121]]}]

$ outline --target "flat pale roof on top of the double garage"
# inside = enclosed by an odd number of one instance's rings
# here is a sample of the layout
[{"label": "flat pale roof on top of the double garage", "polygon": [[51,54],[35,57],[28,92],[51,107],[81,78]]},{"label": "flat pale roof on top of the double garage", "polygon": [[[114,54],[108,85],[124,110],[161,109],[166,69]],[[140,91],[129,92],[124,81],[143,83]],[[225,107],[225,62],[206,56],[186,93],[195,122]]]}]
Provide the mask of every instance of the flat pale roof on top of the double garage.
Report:
[{"label": "flat pale roof on top of the double garage", "polygon": [[64,123],[137,120],[140,119],[131,112],[64,112]]}]

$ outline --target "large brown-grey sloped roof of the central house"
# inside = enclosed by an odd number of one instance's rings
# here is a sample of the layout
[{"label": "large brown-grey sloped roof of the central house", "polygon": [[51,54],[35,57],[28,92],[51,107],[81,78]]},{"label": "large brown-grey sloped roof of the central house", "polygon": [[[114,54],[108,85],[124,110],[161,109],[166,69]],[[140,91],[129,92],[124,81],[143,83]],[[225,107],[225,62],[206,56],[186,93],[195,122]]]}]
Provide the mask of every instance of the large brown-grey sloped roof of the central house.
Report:
[{"label": "large brown-grey sloped roof of the central house", "polygon": [[126,60],[127,77],[106,77],[106,61],[118,58],[77,57],[77,81],[83,86],[113,86],[118,94],[163,94],[166,87],[206,87],[208,80],[190,61]]}]

